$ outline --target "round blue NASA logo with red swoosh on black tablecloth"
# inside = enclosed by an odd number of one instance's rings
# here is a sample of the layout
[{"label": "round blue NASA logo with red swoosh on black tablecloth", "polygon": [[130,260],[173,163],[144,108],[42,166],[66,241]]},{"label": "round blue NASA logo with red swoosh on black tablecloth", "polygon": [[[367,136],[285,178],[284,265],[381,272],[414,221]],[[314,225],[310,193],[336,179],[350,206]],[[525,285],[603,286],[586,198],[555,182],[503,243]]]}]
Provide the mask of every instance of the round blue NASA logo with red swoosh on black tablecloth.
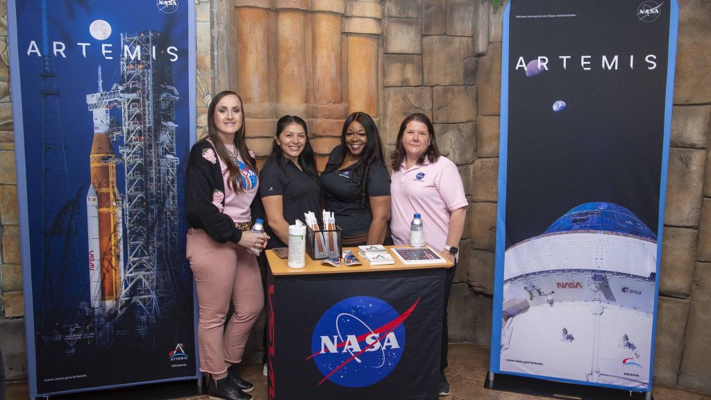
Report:
[{"label": "round blue NASA logo with red swoosh on black tablecloth", "polygon": [[405,325],[419,299],[402,315],[370,296],[347,298],[329,308],[314,328],[311,356],[324,379],[365,387],[385,379],[405,350]]}]

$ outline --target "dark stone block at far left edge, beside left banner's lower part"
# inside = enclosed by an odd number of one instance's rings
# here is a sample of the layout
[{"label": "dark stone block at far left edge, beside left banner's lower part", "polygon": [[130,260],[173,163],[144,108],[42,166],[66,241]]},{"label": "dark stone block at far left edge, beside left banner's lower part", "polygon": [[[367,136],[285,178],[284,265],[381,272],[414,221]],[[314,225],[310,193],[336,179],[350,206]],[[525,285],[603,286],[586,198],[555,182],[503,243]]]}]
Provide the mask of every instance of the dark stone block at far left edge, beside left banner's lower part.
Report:
[{"label": "dark stone block at far left edge, beside left banner's lower part", "polygon": [[[0,346],[5,362],[5,377],[8,381],[27,379],[27,344],[25,343],[24,320],[0,319]],[[13,399],[8,397],[8,400]],[[16,399],[20,399],[19,397]],[[28,396],[25,396],[28,399]]]}]

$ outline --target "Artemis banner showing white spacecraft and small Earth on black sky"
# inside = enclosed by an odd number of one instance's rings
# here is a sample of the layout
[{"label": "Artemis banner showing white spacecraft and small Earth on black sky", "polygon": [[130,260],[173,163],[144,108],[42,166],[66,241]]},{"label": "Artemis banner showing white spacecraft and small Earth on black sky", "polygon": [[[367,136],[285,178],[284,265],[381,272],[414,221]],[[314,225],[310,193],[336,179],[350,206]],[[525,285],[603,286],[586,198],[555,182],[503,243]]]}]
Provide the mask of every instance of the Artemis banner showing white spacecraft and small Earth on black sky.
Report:
[{"label": "Artemis banner showing white spacecraft and small Earth on black sky", "polygon": [[512,0],[491,372],[651,391],[675,0]]}]

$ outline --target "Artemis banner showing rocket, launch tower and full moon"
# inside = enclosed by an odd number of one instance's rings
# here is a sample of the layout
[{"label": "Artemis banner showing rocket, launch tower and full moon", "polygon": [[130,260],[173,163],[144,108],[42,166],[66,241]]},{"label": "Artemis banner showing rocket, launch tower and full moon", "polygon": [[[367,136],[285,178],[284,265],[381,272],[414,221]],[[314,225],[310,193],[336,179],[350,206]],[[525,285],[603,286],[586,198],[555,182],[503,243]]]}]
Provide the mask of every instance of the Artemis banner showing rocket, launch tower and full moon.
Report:
[{"label": "Artemis banner showing rocket, launch tower and full moon", "polygon": [[197,377],[194,1],[7,4],[31,396]]}]

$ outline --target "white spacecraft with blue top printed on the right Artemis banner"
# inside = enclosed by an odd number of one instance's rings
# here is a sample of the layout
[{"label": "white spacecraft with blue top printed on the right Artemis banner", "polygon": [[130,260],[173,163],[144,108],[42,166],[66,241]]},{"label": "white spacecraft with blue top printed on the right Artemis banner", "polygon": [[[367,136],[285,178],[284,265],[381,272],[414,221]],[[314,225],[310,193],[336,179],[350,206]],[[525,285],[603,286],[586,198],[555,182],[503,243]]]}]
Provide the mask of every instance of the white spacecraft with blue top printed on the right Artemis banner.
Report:
[{"label": "white spacecraft with blue top printed on the right Artemis banner", "polygon": [[501,371],[648,388],[657,238],[587,203],[506,250]]}]

